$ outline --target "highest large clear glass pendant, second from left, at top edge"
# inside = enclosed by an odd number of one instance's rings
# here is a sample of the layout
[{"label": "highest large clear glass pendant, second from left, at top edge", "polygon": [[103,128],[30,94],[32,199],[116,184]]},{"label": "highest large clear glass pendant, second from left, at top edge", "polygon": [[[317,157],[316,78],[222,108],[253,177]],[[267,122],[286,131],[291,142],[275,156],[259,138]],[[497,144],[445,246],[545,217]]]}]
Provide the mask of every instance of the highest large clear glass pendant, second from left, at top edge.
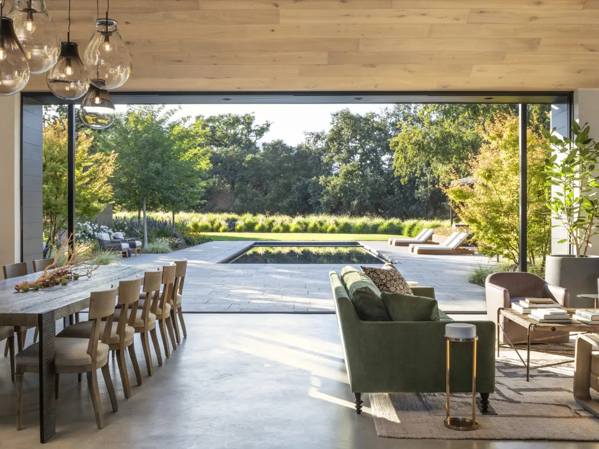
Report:
[{"label": "highest large clear glass pendant, second from left, at top edge", "polygon": [[44,73],[56,64],[60,54],[58,29],[48,11],[46,0],[14,0],[8,13],[14,31],[25,50],[31,73]]}]

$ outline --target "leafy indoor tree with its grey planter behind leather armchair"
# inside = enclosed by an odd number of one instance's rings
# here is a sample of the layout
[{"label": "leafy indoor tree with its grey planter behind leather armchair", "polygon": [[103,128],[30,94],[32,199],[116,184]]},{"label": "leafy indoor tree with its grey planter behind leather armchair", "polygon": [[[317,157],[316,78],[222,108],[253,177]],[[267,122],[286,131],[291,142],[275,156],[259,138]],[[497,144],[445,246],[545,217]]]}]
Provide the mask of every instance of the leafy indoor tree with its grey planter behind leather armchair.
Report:
[{"label": "leafy indoor tree with its grey planter behind leather armchair", "polygon": [[[589,126],[572,122],[574,139],[559,138],[546,129],[547,151],[545,174],[552,195],[547,207],[553,228],[561,229],[558,243],[567,243],[569,254],[547,256],[547,283],[570,292],[570,307],[594,307],[588,299],[576,298],[581,293],[597,293],[599,257],[592,251],[594,236],[599,231],[599,143],[589,138]],[[559,233],[559,231],[558,231]],[[599,245],[597,245],[599,250]]]}]

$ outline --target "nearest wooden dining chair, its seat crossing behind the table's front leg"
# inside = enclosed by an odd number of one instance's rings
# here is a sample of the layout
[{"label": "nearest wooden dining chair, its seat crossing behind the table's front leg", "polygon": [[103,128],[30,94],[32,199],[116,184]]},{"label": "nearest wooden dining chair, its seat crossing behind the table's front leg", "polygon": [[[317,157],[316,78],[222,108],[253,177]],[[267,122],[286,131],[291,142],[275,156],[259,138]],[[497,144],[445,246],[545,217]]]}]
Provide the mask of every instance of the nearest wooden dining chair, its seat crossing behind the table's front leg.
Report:
[{"label": "nearest wooden dining chair, its seat crossing behind the table's front leg", "polygon": [[[113,411],[117,411],[116,393],[108,369],[109,342],[113,324],[114,302],[117,289],[89,294],[89,319],[92,331],[89,338],[55,338],[55,396],[58,398],[60,374],[87,373],[87,387],[92,398],[93,412],[98,429],[104,427],[102,401],[98,386],[98,369],[102,369],[104,382]],[[102,326],[102,318],[106,318]],[[102,333],[100,333],[101,329]],[[22,429],[23,374],[40,372],[40,344],[26,347],[16,356],[17,377],[17,430]]]}]

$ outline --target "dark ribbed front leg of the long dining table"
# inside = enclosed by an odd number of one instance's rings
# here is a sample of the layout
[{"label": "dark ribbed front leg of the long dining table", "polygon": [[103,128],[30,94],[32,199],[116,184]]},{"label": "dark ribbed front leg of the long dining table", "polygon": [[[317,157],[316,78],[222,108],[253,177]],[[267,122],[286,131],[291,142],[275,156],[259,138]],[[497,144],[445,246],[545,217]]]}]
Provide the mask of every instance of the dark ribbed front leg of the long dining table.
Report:
[{"label": "dark ribbed front leg of the long dining table", "polygon": [[45,443],[56,433],[54,386],[54,312],[38,315],[40,327],[40,442]]}]

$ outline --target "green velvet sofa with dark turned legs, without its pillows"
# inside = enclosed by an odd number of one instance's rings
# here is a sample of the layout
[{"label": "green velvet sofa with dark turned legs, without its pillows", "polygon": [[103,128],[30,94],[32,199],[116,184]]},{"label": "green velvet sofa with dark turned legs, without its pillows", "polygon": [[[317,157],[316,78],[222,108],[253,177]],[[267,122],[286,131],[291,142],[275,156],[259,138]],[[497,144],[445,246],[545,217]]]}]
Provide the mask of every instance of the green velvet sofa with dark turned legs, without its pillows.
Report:
[{"label": "green velvet sofa with dark turned legs, without its pillows", "polygon": [[[453,321],[439,311],[440,321],[362,321],[349,299],[340,276],[329,273],[337,323],[356,412],[363,393],[445,392],[445,324]],[[432,287],[412,287],[415,295],[435,298]],[[464,321],[470,322],[470,321]],[[495,326],[491,321],[471,321],[479,337],[476,389],[483,412],[495,390]],[[452,392],[472,391],[472,346],[452,343]]]}]

